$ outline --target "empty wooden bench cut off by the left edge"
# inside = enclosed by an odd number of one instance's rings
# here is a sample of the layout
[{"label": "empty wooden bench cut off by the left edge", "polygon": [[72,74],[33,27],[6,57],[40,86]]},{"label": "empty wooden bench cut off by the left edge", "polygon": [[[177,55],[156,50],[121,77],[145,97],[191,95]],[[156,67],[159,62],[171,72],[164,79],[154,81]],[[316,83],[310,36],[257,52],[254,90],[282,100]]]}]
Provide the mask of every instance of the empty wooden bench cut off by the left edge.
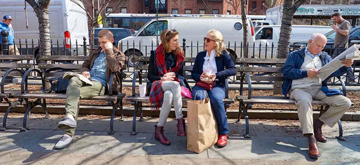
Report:
[{"label": "empty wooden bench cut off by the left edge", "polygon": [[[0,76],[1,79],[1,93],[0,100],[4,100],[9,104],[8,109],[5,111],[3,118],[2,131],[6,130],[6,119],[9,112],[16,106],[23,103],[23,99],[17,99],[16,101],[10,101],[10,98],[15,98],[14,94],[19,93],[19,90],[5,90],[5,80],[8,77],[22,77],[24,73],[33,68],[34,64],[30,63],[34,59],[33,55],[0,55]],[[31,115],[31,113],[29,114]]]}]

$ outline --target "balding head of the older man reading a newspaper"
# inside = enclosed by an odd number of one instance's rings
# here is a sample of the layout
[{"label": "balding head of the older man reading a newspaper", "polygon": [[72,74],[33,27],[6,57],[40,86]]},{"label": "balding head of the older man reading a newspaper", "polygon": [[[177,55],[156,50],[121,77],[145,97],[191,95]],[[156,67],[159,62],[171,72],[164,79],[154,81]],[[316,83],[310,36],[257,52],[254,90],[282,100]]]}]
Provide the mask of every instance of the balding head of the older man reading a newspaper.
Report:
[{"label": "balding head of the older man reading a newspaper", "polygon": [[321,33],[314,33],[309,40],[307,51],[309,51],[312,55],[316,55],[325,48],[327,41],[328,39],[325,35]]}]

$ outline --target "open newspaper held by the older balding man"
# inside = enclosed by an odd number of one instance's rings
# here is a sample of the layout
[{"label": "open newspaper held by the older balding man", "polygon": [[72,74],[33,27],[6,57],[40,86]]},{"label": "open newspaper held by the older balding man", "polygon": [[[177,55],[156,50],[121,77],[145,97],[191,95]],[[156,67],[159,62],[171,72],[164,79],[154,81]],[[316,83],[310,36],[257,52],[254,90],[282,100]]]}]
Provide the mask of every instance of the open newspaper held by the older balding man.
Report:
[{"label": "open newspaper held by the older balding man", "polygon": [[360,60],[359,48],[360,44],[352,45],[350,48],[346,49],[344,52],[335,57],[332,61],[325,64],[325,66],[321,67],[318,70],[318,75],[316,76],[319,77],[321,81],[323,81],[339,68],[345,66],[341,63],[344,59]]}]

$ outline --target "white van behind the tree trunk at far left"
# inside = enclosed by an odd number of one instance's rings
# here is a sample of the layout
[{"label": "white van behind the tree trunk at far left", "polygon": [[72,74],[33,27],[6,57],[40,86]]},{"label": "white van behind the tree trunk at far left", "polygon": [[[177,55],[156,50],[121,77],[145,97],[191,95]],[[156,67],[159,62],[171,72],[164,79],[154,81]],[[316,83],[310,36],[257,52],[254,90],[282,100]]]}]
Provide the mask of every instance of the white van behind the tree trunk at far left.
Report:
[{"label": "white van behind the tree trunk at far left", "polygon": [[[80,2],[80,1],[79,1]],[[81,2],[79,4],[82,4]],[[14,19],[12,26],[14,28],[15,44],[19,44],[21,39],[22,52],[29,54],[35,52],[35,56],[39,52],[37,41],[39,40],[39,23],[30,4],[26,3],[28,15],[28,28],[25,24],[24,0],[1,0],[0,1],[0,17],[11,15]],[[51,0],[49,6],[50,12],[50,36],[53,40],[53,55],[72,55],[84,54],[84,48],[78,47],[76,52],[76,41],[78,45],[83,45],[83,37],[89,43],[89,35],[87,28],[87,16],[85,10],[73,3],[71,0]],[[70,37],[71,49],[64,50],[65,35]],[[27,39],[28,50],[26,50],[25,39]],[[31,39],[33,39],[34,50],[32,50]],[[58,42],[57,42],[58,41]],[[57,47],[59,43],[59,50]],[[70,44],[69,40],[67,44]],[[20,46],[17,45],[18,49]],[[70,48],[70,46],[68,46]]]}]

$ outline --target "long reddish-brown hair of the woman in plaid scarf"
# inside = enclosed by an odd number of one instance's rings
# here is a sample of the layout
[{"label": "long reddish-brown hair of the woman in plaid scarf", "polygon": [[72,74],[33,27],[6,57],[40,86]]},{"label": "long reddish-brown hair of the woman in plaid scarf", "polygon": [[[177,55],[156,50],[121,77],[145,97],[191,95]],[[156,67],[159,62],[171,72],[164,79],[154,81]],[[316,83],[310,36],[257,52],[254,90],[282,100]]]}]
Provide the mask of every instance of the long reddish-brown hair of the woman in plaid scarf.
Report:
[{"label": "long reddish-brown hair of the woman in plaid scarf", "polygon": [[[161,35],[160,35],[161,44],[164,47],[165,52],[168,52],[168,50],[170,49],[168,42],[176,35],[179,35],[179,32],[177,30],[172,29],[171,31],[169,29],[165,29],[164,31],[161,32]],[[164,54],[165,54],[165,52],[164,52]],[[174,52],[173,55],[177,55],[180,53],[180,55],[184,56],[184,51],[183,51],[183,49],[181,49],[180,44],[177,45],[177,48],[175,50],[173,50],[173,52]]]}]

